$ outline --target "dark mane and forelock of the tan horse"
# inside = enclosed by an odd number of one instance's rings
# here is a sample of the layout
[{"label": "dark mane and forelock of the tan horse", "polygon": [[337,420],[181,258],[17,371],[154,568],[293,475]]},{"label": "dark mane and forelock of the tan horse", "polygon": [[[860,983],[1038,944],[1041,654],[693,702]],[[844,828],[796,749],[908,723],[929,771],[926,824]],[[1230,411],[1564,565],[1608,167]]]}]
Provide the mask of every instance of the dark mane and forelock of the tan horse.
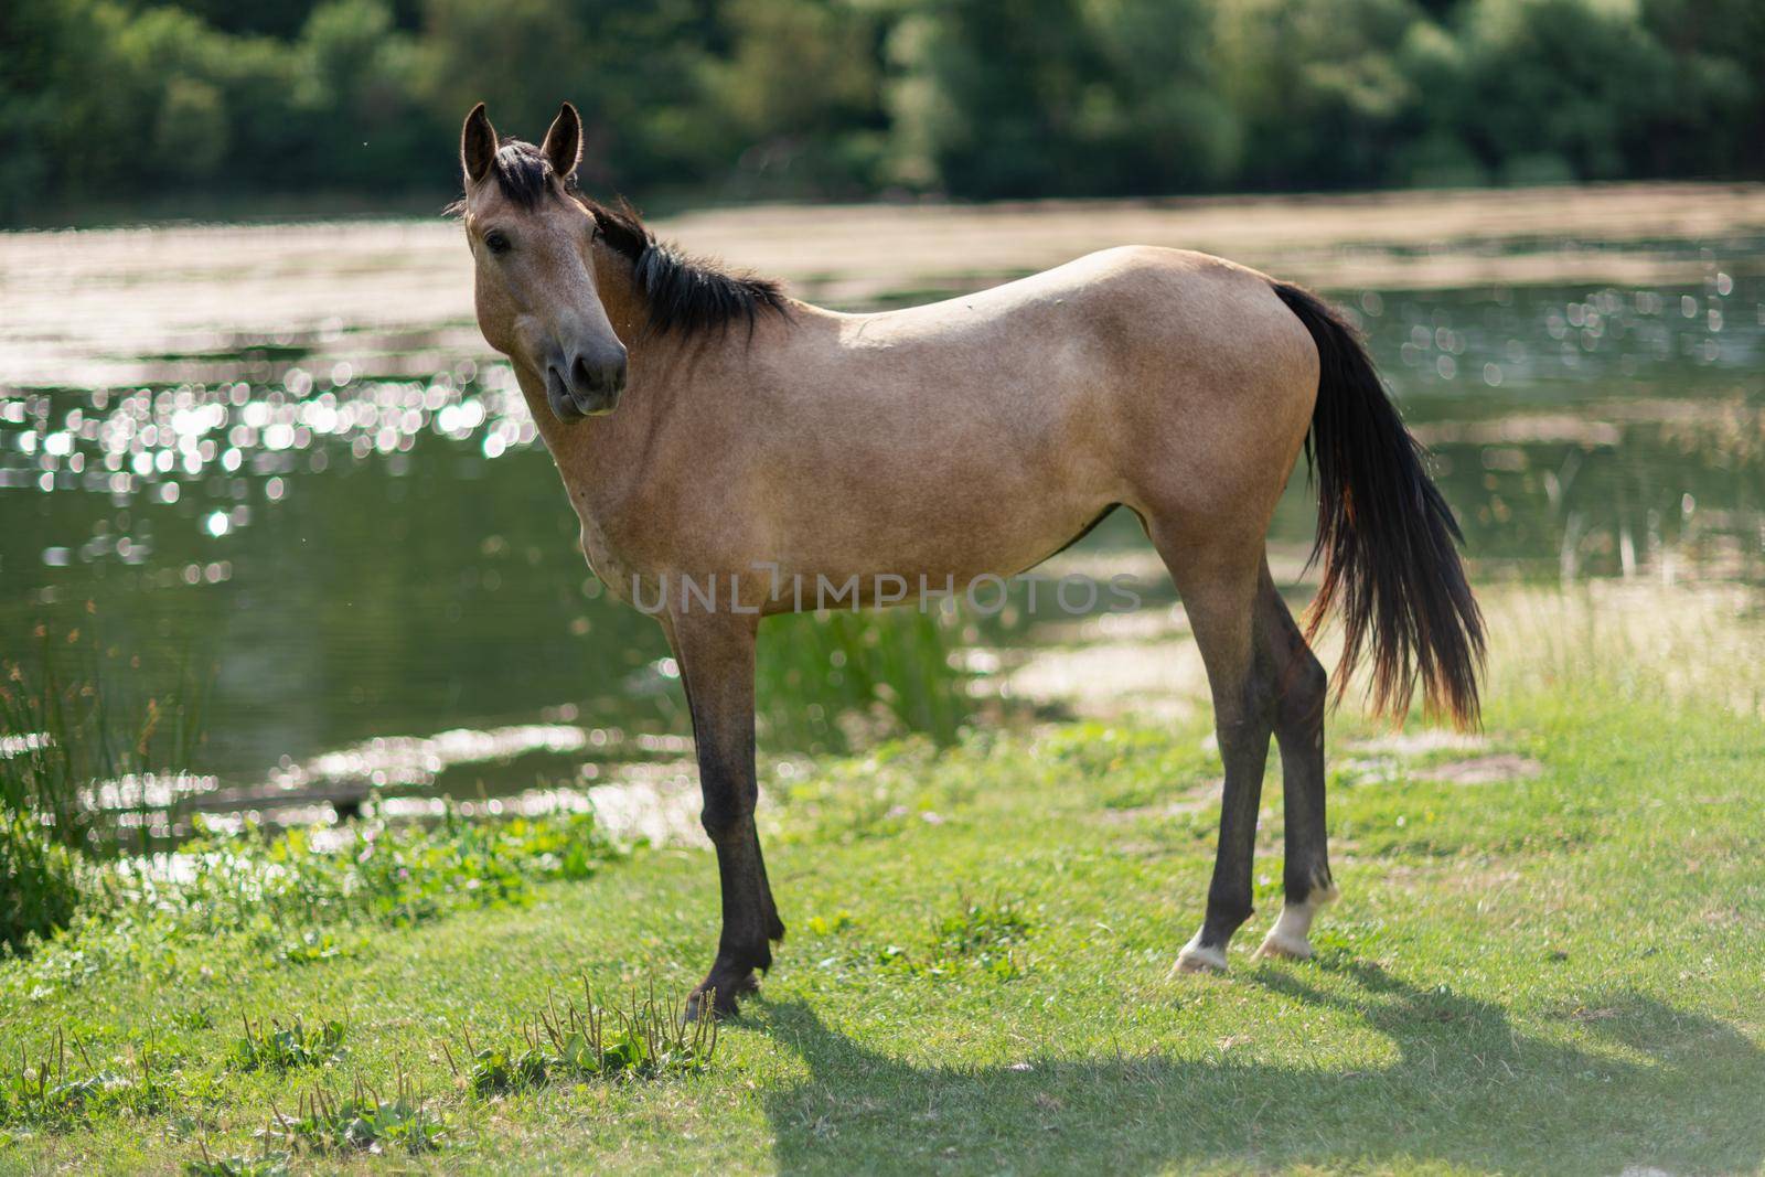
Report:
[{"label": "dark mane and forelock of the tan horse", "polygon": [[[537,146],[521,139],[503,141],[491,173],[503,196],[522,208],[538,208],[551,192],[552,166]],[[602,205],[590,199],[575,191],[574,176],[565,191],[595,217],[607,247],[632,263],[637,293],[650,309],[650,330],[658,335],[724,330],[734,321],[747,323],[752,332],[762,312],[791,314],[784,289],[773,279],[731,274],[658,242],[627,201]],[[455,205],[450,212],[459,208]]]}]

